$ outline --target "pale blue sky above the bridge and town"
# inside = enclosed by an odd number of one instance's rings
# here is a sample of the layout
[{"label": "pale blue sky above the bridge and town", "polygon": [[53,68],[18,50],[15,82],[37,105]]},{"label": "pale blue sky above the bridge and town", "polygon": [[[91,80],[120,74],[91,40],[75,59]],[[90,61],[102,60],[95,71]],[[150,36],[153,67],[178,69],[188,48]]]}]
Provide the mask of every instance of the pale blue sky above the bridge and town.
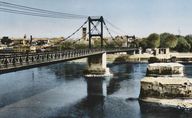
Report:
[{"label": "pale blue sky above the bridge and town", "polygon": [[[112,35],[192,34],[192,0],[0,0],[51,11],[103,16]],[[1,7],[1,6],[0,6]],[[86,19],[54,19],[0,11],[0,37],[67,37]],[[107,36],[105,32],[104,35]],[[76,37],[80,37],[81,32]]]}]

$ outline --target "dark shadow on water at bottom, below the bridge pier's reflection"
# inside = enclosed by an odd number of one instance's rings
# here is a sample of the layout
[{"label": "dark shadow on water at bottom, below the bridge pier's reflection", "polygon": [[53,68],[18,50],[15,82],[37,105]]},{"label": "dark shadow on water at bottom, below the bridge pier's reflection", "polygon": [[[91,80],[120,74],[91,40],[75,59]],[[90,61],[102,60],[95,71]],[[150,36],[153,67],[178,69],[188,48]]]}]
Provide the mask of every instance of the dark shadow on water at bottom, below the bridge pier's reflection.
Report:
[{"label": "dark shadow on water at bottom, below the bridge pier's reflection", "polygon": [[104,117],[104,97],[88,96],[75,105],[62,108],[55,117],[64,118],[102,118]]}]

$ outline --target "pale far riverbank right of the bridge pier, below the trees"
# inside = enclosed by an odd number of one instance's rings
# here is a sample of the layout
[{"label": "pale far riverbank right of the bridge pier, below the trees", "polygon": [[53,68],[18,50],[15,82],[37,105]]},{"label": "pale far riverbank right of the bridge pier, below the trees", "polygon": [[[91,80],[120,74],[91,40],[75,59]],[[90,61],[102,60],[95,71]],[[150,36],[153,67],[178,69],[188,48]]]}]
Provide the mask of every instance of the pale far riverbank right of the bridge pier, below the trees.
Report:
[{"label": "pale far riverbank right of the bridge pier, below the trees", "polygon": [[107,60],[108,62],[113,63],[148,63],[148,60],[151,57],[155,57],[160,61],[166,62],[171,61],[173,58],[175,62],[183,63],[183,64],[191,64],[192,63],[192,53],[178,53],[178,52],[171,52],[168,54],[134,54],[134,55],[127,55],[127,54],[108,54]]}]

